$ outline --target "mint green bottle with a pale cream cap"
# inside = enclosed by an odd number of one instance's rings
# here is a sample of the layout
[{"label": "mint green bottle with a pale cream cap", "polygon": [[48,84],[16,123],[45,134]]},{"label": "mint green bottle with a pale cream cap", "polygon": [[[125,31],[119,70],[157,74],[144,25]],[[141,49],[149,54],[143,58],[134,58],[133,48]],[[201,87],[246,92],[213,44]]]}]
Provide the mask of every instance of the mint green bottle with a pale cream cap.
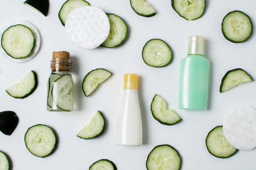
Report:
[{"label": "mint green bottle with a pale cream cap", "polygon": [[188,55],[180,64],[179,108],[207,110],[209,60],[204,57],[204,38],[193,35],[188,40]]}]

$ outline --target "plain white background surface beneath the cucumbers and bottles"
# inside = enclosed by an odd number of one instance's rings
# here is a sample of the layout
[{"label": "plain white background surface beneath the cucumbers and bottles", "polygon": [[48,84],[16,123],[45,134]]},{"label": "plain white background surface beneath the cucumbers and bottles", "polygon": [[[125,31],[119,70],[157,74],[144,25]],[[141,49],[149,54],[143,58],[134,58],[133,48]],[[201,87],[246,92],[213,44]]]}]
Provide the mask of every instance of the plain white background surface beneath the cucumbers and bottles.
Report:
[{"label": "plain white background surface beneath the cucumbers and bottles", "polygon": [[[219,92],[225,73],[233,68],[243,68],[256,79],[256,35],[246,42],[234,44],[221,33],[224,16],[241,10],[255,24],[254,0],[207,0],[202,18],[187,21],[171,7],[171,0],[147,0],[157,11],[150,18],[137,15],[129,0],[90,0],[90,4],[106,13],[115,13],[128,24],[128,37],[117,48],[82,49],[70,42],[65,27],[58,19],[58,11],[65,0],[51,0],[47,17],[27,8],[23,1],[4,1],[0,5],[2,28],[9,22],[27,20],[40,32],[41,46],[36,57],[25,63],[13,63],[0,57],[0,108],[13,110],[20,118],[11,136],[0,133],[0,150],[7,153],[12,170],[86,170],[96,160],[110,159],[119,170],[146,170],[149,152],[159,144],[170,144],[182,157],[181,170],[253,170],[256,167],[256,150],[238,151],[227,159],[209,154],[205,146],[208,132],[222,125],[225,115],[238,106],[256,108],[256,81],[236,86],[224,93]],[[255,31],[255,29],[254,29]],[[204,55],[210,61],[210,87],[207,111],[180,110],[178,108],[180,60],[186,56],[187,39],[201,35],[205,39]],[[153,68],[146,65],[141,56],[144,44],[160,38],[173,50],[168,66]],[[75,106],[69,113],[46,111],[47,79],[53,51],[69,51],[72,57],[72,76],[75,82]],[[101,84],[89,97],[85,97],[81,84],[91,70],[105,68],[112,76]],[[14,99],[5,90],[30,70],[38,74],[36,91],[25,99]],[[143,124],[143,145],[128,147],[115,144],[119,106],[123,92],[125,73],[139,75],[139,99]],[[155,94],[161,95],[168,108],[175,110],[182,121],[165,126],[155,120],[150,104]],[[91,140],[83,140],[76,134],[96,110],[106,118],[104,133]],[[24,135],[30,126],[46,124],[57,136],[56,150],[45,158],[31,155],[25,147]]]}]

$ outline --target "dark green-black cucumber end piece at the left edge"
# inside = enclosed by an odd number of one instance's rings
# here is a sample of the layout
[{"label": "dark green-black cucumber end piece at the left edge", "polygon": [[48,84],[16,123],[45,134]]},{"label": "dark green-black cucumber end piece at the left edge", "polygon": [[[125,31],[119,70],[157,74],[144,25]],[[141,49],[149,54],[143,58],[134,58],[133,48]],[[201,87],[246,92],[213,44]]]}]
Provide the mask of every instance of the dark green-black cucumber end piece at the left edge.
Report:
[{"label": "dark green-black cucumber end piece at the left edge", "polygon": [[11,135],[18,125],[19,118],[13,111],[0,112],[0,131],[4,135]]}]

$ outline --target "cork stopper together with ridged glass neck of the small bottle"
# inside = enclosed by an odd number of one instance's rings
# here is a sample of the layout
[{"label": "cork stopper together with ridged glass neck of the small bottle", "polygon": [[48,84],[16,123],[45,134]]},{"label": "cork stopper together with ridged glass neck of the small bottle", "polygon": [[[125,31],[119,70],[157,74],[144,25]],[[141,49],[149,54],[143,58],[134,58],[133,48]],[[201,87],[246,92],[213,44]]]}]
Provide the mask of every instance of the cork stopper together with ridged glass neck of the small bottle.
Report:
[{"label": "cork stopper together with ridged glass neck of the small bottle", "polygon": [[72,63],[70,60],[70,53],[67,51],[52,52],[51,68],[52,72],[71,71]]}]

